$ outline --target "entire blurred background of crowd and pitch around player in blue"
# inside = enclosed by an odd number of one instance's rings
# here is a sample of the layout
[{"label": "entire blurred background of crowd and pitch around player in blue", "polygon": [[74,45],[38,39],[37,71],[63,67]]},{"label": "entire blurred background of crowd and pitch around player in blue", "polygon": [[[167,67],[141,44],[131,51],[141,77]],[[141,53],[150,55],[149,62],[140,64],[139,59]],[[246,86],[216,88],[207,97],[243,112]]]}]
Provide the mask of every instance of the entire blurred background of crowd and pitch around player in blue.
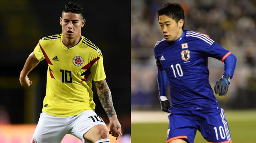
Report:
[{"label": "entire blurred background of crowd and pitch around player in blue", "polygon": [[[185,29],[208,34],[236,56],[229,92],[216,98],[226,110],[233,142],[255,142],[256,1],[131,0],[132,143],[140,143],[142,138],[148,143],[160,143],[166,138],[168,114],[160,111],[153,49],[155,42],[163,38],[156,11],[167,2],[183,6]],[[223,67],[221,61],[208,59],[212,87],[222,76]],[[204,142],[197,135],[195,143]]]}]

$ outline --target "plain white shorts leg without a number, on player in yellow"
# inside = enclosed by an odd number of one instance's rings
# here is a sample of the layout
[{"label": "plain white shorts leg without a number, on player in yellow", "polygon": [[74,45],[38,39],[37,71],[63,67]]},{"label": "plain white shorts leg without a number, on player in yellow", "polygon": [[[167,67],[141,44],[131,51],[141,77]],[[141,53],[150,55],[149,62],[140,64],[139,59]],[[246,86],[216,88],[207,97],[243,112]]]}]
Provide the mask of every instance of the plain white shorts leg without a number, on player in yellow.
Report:
[{"label": "plain white shorts leg without a number, on player in yellow", "polygon": [[60,143],[68,130],[65,117],[55,117],[42,112],[32,143]]}]

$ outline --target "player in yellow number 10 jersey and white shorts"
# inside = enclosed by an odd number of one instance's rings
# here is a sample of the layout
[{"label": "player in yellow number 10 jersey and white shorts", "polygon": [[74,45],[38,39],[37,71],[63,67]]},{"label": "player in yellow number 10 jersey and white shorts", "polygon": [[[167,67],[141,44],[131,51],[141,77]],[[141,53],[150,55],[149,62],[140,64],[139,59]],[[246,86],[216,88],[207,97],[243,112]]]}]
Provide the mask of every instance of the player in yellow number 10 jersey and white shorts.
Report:
[{"label": "player in yellow number 10 jersey and white shorts", "polygon": [[[29,72],[44,59],[48,63],[46,96],[32,143],[60,143],[66,134],[85,143],[110,143],[108,134],[122,135],[105,80],[102,53],[81,35],[83,11],[82,6],[67,3],[60,17],[62,34],[40,39],[20,72],[20,84],[29,87]],[[110,120],[110,132],[94,112],[92,80]]]}]

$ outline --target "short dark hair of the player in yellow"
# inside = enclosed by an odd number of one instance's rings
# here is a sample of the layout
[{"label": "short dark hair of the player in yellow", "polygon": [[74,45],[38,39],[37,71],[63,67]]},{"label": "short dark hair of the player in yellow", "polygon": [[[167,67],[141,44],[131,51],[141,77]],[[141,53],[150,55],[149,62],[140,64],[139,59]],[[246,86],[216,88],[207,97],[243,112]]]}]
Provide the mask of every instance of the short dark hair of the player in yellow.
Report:
[{"label": "short dark hair of the player in yellow", "polygon": [[[75,2],[68,2],[64,5],[64,8],[63,8],[63,11],[62,11],[62,14],[64,13],[68,13],[68,12],[71,12],[71,13],[77,13],[77,14],[81,14],[82,16],[82,19],[83,19],[83,16],[84,16],[84,7],[82,7],[81,5],[75,3]],[[63,15],[62,15],[63,16]]]}]

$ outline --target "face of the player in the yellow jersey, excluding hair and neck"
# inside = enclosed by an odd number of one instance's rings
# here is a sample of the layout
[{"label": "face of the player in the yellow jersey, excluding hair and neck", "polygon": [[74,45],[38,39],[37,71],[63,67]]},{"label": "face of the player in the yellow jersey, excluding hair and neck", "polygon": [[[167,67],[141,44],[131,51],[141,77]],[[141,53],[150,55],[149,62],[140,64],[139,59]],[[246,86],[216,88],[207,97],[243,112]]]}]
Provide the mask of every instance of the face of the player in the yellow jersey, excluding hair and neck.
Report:
[{"label": "face of the player in the yellow jersey, excluding hair and neck", "polygon": [[60,17],[60,25],[62,26],[62,34],[68,39],[80,37],[81,28],[85,24],[85,19],[82,20],[81,14],[62,13]]}]

